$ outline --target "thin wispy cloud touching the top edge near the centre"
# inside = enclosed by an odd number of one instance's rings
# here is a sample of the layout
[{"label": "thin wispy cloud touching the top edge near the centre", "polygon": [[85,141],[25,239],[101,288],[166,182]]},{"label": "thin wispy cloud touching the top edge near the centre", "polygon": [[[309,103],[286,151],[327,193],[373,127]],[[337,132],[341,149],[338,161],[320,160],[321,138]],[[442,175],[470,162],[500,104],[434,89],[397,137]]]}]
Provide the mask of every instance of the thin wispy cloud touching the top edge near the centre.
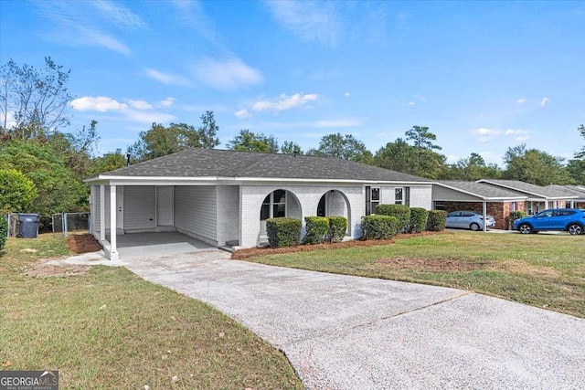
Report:
[{"label": "thin wispy cloud touching the top edge near the centre", "polygon": [[270,1],[272,17],[305,41],[335,45],[341,30],[335,3]]}]

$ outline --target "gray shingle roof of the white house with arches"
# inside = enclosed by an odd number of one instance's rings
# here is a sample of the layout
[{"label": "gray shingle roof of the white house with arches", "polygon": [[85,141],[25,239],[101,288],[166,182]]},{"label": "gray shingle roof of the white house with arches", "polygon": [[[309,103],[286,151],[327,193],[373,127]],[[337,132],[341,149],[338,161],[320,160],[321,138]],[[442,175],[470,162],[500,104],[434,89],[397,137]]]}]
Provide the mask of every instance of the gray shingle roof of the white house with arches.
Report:
[{"label": "gray shingle roof of the white house with arches", "polygon": [[187,149],[116,169],[100,176],[102,178],[107,178],[107,176],[219,176],[431,183],[431,180],[419,176],[401,174],[335,157],[307,155],[294,157],[292,154],[248,153],[219,149]]}]

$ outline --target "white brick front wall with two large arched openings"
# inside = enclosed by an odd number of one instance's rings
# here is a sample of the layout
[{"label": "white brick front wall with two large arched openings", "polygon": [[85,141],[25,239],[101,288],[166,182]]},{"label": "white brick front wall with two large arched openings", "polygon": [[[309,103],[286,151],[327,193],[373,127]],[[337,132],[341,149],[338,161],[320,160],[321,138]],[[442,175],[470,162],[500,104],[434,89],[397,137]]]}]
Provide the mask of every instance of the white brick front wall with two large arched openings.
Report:
[{"label": "white brick front wall with two large arched openings", "polygon": [[[316,216],[319,200],[328,191],[340,191],[349,202],[347,213],[351,237],[361,237],[359,222],[365,210],[365,195],[361,185],[356,186],[329,186],[329,185],[253,185],[241,186],[240,197],[240,226],[239,245],[244,248],[255,247],[260,239],[260,209],[266,195],[272,191],[282,189],[292,193],[301,206],[300,219],[305,216]],[[342,196],[342,194],[337,194]],[[297,213],[295,213],[297,214]],[[289,216],[291,213],[289,213]],[[294,217],[299,217],[298,214]]]}]

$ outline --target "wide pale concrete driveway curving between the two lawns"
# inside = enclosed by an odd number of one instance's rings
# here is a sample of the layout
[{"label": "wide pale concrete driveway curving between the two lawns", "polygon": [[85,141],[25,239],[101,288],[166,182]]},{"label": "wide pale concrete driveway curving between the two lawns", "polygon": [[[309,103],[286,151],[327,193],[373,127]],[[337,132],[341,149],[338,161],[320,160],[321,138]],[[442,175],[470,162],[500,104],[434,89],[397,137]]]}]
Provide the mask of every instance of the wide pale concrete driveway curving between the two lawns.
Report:
[{"label": "wide pale concrete driveway curving between the two lawns", "polygon": [[557,312],[463,290],[229,260],[218,250],[123,263],[282,349],[309,389],[585,383],[585,320]]}]

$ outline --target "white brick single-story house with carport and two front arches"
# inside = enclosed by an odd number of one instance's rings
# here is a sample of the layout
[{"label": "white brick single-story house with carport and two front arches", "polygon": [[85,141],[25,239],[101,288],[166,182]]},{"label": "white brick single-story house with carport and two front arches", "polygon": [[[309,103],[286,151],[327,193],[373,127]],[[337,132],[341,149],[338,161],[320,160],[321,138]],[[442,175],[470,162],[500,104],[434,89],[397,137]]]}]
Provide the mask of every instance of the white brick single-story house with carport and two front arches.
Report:
[{"label": "white brick single-story house with carport and two front arches", "polygon": [[431,181],[334,157],[189,149],[86,182],[91,230],[110,258],[120,234],[177,231],[251,248],[267,240],[270,217],[346,216],[357,238],[379,204],[431,208]]}]

